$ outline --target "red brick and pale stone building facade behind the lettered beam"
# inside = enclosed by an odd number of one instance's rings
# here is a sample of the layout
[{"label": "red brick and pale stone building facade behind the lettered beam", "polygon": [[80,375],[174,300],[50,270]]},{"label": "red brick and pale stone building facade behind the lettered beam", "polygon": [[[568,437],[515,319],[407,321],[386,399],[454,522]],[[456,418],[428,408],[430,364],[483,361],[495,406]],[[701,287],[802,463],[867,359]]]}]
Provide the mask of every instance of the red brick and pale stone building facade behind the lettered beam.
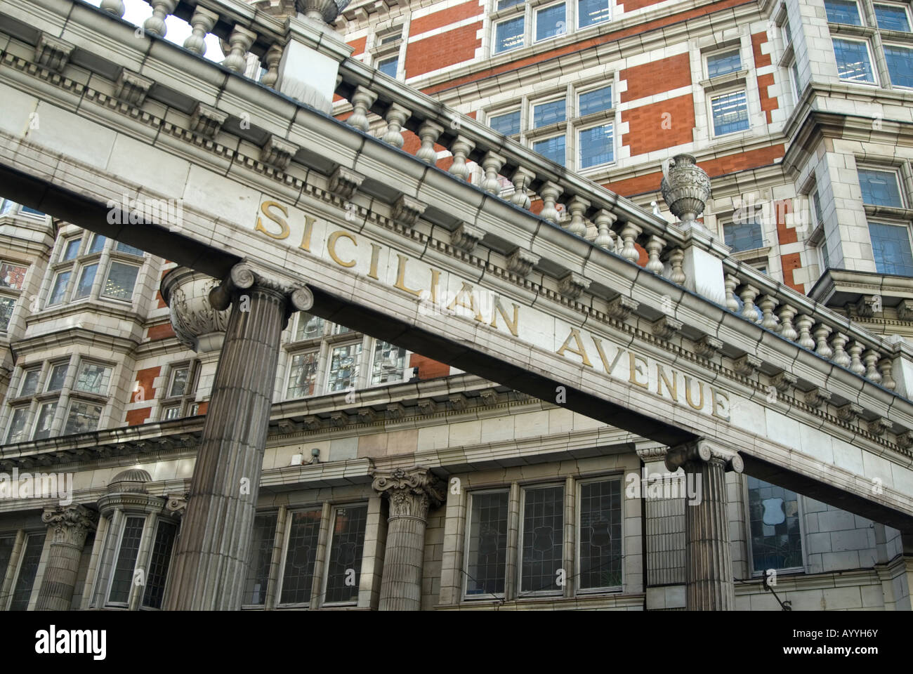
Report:
[{"label": "red brick and pale stone building facade behind the lettered beam", "polygon": [[[336,26],[366,65],[670,224],[659,167],[692,155],[712,185],[699,222],[732,264],[907,353],[908,3],[354,2]],[[268,58],[247,63],[268,77]],[[336,98],[333,115],[363,114],[375,135],[397,120],[357,92]],[[463,164],[469,182],[525,195],[491,153],[447,149],[407,118],[404,152],[430,148],[446,171]],[[565,226],[585,211],[557,187],[530,196]],[[0,211],[0,465],[18,480],[0,499],[0,608],[162,609],[228,329],[209,301],[219,281],[15,201]],[[264,205],[257,229],[283,226],[280,213]],[[582,237],[609,236],[598,216],[580,220]],[[650,269],[658,248],[630,238],[610,236],[611,249]],[[750,284],[729,275],[726,290],[731,311],[770,315]],[[903,373],[858,337],[819,332],[803,332],[819,355],[824,341],[834,363],[906,395]],[[661,443],[562,402],[292,313],[241,605],[685,608],[700,482]],[[909,532],[740,470],[725,492],[735,608],[911,609]]]}]

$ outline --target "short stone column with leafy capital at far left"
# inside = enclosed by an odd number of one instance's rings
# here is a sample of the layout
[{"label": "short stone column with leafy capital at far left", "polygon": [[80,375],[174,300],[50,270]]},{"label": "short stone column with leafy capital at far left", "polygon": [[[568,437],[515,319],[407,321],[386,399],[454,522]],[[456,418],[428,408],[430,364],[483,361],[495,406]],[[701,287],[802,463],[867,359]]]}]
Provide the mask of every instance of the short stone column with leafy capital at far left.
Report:
[{"label": "short stone column with leafy capital at far left", "polygon": [[37,611],[68,611],[76,589],[79,558],[86,536],[95,529],[96,513],[79,504],[48,508],[41,515],[51,540]]}]

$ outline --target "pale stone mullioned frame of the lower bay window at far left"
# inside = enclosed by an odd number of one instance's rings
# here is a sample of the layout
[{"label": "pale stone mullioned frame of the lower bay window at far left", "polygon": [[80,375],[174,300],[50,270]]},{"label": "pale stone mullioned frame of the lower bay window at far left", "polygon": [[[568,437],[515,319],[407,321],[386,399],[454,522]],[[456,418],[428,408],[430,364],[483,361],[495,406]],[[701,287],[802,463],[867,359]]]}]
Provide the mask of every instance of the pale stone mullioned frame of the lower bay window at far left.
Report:
[{"label": "pale stone mullioned frame of the lower bay window at far left", "polygon": [[[111,368],[108,390],[103,395],[76,390],[76,377],[79,374],[79,368],[82,366],[83,362],[100,364]],[[47,388],[48,377],[50,376],[51,370],[55,365],[62,363],[68,363],[67,376],[63,386],[55,391],[46,391],[45,389]],[[41,367],[41,374],[38,376],[36,392],[32,395],[18,395],[20,386],[22,385],[23,375],[26,370],[31,370],[36,365],[40,365]],[[10,377],[9,386],[7,387],[6,404],[3,413],[0,414],[0,428],[3,429],[3,435],[0,437],[4,439],[5,443],[9,442],[8,434],[10,431],[10,424],[13,421],[14,410],[24,407],[27,404],[28,412],[26,413],[25,425],[26,437],[23,437],[17,442],[27,442],[33,439],[36,433],[35,426],[42,405],[55,401],[58,406],[54,411],[54,417],[51,422],[48,437],[58,437],[64,434],[64,428],[66,427],[67,418],[69,416],[69,409],[73,401],[100,406],[101,414],[96,430],[108,427],[112,414],[112,390],[116,388],[116,382],[119,380],[122,368],[123,363],[120,361],[112,363],[82,353],[71,353],[68,359],[46,358],[38,362],[33,361],[17,364],[13,376]]]}]

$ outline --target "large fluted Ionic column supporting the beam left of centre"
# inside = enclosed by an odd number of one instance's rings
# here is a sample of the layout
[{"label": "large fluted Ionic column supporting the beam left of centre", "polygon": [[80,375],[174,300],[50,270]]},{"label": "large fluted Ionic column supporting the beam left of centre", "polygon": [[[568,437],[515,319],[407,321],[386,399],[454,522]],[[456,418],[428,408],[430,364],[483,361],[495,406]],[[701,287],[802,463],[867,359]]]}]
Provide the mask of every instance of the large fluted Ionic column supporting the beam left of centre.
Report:
[{"label": "large fluted Ionic column supporting the beam left of centre", "polygon": [[313,296],[240,263],[210,301],[232,311],[177,543],[171,610],[241,607],[279,337],[290,311],[309,310]]}]

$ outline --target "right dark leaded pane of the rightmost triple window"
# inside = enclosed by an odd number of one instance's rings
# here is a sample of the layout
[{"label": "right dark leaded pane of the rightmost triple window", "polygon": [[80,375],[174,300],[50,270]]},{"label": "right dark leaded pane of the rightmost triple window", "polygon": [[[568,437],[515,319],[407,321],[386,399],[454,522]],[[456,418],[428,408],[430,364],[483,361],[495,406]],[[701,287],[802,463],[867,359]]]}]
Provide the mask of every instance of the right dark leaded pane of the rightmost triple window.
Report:
[{"label": "right dark leaded pane of the rightmost triple window", "polygon": [[622,584],[622,487],[619,479],[580,488],[580,588]]}]

